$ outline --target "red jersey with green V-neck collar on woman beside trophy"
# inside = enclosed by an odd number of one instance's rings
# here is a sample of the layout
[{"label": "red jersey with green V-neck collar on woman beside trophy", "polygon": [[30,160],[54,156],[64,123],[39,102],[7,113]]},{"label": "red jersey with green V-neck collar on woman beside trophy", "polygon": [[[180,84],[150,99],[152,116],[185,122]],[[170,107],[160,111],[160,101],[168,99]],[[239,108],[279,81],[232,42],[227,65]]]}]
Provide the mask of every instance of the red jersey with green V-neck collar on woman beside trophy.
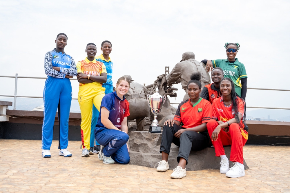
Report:
[{"label": "red jersey with green V-neck collar on woman beside trophy", "polygon": [[181,122],[182,128],[193,128],[211,120],[211,103],[200,98],[194,105],[190,99],[182,101],[177,108],[174,120]]}]

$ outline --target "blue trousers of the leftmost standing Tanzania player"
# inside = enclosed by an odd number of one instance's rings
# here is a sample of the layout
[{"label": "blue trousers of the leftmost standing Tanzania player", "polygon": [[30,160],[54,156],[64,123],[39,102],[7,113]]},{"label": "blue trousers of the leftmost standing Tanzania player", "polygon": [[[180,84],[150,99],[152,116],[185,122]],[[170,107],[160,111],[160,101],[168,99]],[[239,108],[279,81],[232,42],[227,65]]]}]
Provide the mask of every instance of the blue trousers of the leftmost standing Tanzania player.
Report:
[{"label": "blue trousers of the leftmost standing Tanzania player", "polygon": [[72,100],[70,79],[48,77],[43,90],[44,118],[42,124],[42,149],[50,150],[55,114],[59,105],[59,148],[68,147],[68,117]]}]

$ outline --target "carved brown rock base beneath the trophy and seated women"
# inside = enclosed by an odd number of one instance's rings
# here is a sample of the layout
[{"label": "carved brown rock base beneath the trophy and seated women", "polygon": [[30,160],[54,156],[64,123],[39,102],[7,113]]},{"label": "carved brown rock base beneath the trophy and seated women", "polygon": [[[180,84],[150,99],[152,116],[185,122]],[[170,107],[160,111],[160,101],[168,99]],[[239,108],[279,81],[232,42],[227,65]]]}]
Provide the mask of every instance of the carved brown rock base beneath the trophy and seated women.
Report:
[{"label": "carved brown rock base beneath the trophy and seated women", "polygon": [[[130,164],[141,165],[146,167],[154,167],[154,165],[161,161],[160,133],[149,133],[147,131],[132,131],[129,139],[130,146]],[[179,147],[172,144],[170,154],[168,157],[169,168],[173,170],[177,165],[177,155]],[[226,156],[230,157],[231,147],[224,147]],[[229,162],[229,167],[233,166],[233,162]],[[245,170],[249,169],[244,160]],[[186,170],[207,170],[220,169],[220,157],[215,156],[215,149],[208,147],[200,151],[191,151],[189,154],[188,164]]]}]

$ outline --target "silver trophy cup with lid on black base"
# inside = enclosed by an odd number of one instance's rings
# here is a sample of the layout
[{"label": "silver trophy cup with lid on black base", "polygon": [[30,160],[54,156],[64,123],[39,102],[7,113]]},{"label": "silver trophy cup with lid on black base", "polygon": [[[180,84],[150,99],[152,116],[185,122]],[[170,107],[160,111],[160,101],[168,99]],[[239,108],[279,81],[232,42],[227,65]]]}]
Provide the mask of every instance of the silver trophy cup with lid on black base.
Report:
[{"label": "silver trophy cup with lid on black base", "polygon": [[150,110],[154,114],[154,120],[152,121],[151,126],[149,127],[149,132],[151,133],[161,133],[161,127],[159,126],[159,123],[157,121],[157,113],[160,112],[162,109],[162,106],[165,102],[165,95],[162,97],[158,93],[158,88],[155,90],[156,92],[152,95],[147,95],[147,101],[150,105]]}]

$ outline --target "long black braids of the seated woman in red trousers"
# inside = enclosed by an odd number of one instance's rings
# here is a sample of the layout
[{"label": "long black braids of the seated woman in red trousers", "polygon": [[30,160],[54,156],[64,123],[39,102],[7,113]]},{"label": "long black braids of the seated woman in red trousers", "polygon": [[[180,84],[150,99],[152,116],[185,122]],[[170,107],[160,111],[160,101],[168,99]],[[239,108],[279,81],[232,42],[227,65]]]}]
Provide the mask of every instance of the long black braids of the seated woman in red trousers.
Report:
[{"label": "long black braids of the seated woman in red trousers", "polygon": [[[244,101],[244,99],[242,99],[236,92],[235,92],[235,85],[234,85],[234,82],[229,79],[229,78],[223,78],[221,81],[220,81],[220,84],[222,83],[222,81],[224,80],[228,80],[231,82],[231,85],[232,85],[232,91],[231,91],[231,99],[232,99],[232,114],[235,115],[235,119],[236,121],[238,122],[239,119],[239,100],[238,98],[240,98],[244,104],[244,114],[243,114],[243,117],[242,117],[242,120],[243,120],[243,123],[245,124],[245,120],[246,120],[246,102]],[[218,97],[222,97],[222,92],[219,90],[218,91]],[[240,127],[242,128],[242,125],[241,125],[241,121],[239,121],[238,123],[240,125]]]}]

